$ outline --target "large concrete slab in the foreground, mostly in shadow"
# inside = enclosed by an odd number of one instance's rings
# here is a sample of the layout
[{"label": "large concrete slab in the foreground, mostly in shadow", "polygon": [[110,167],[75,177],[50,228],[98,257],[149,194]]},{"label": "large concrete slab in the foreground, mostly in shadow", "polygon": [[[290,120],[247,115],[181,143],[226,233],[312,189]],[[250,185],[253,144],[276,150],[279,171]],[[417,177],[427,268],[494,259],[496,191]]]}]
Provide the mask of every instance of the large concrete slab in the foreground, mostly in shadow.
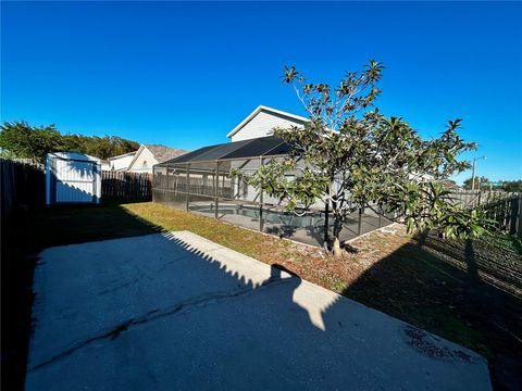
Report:
[{"label": "large concrete slab in the foreground, mostly in shadow", "polygon": [[27,390],[489,390],[476,353],[190,232],[52,248]]}]

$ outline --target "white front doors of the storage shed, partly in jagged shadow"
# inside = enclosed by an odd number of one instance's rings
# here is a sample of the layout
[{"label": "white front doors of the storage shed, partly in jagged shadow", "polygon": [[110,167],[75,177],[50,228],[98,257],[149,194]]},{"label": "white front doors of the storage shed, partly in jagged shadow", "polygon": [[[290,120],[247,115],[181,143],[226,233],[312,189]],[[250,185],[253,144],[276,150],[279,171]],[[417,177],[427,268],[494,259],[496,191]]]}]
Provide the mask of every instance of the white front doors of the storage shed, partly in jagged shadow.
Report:
[{"label": "white front doors of the storage shed, partly in jagged shadow", "polygon": [[96,168],[92,162],[54,160],[57,202],[92,202]]}]

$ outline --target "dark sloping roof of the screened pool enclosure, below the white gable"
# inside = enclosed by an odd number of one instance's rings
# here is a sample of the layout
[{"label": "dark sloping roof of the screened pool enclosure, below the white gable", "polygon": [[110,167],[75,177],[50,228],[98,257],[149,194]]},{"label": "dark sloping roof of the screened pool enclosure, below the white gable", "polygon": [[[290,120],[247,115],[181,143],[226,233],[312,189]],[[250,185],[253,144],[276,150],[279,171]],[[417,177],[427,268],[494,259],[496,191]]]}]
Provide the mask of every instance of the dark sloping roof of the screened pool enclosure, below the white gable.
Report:
[{"label": "dark sloping roof of the screened pool enclosure, below the white gable", "polygon": [[273,156],[286,154],[290,150],[291,146],[282,139],[270,136],[203,147],[182,156],[163,162],[162,164],[158,164],[158,166],[162,166],[164,164],[209,162],[224,159]]}]

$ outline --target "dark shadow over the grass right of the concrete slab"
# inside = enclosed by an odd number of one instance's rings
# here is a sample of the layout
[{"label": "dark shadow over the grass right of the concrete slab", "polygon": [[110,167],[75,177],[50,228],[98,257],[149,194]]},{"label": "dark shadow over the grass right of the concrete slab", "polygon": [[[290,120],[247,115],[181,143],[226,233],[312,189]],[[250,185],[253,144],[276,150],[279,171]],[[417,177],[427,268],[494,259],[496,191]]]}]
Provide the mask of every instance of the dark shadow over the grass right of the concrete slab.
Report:
[{"label": "dark shadow over the grass right of the concrete slab", "polygon": [[496,390],[519,389],[520,261],[513,265],[480,255],[472,240],[427,234],[418,240],[381,260],[343,295],[483,354]]}]

